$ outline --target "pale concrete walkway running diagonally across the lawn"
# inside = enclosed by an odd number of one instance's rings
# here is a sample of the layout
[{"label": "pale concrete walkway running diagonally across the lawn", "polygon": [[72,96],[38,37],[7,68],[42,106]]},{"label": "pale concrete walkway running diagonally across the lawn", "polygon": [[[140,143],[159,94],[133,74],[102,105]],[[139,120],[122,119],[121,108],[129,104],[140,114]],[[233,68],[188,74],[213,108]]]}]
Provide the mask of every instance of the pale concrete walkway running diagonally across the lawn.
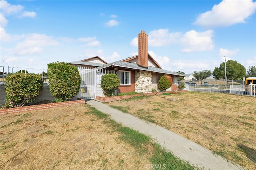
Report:
[{"label": "pale concrete walkway running diagonally across the lawn", "polygon": [[191,165],[206,170],[244,170],[241,166],[228,162],[222,157],[212,154],[210,150],[163,127],[146,123],[137,117],[95,100],[89,100],[86,103],[103,113],[109,114],[116,122],[149,135],[163,148],[170,150],[175,156],[188,161]]}]

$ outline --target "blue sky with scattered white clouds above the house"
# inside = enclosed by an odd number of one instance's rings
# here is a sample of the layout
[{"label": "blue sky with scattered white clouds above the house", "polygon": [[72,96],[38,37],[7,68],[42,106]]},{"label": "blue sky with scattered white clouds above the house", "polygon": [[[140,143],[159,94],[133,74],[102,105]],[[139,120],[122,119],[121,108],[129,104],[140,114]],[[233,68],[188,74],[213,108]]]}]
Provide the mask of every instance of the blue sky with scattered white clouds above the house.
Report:
[{"label": "blue sky with scattered white clouds above the house", "polygon": [[256,65],[256,1],[0,1],[1,65],[108,63],[138,54],[138,34],[163,69],[213,70],[226,59]]}]

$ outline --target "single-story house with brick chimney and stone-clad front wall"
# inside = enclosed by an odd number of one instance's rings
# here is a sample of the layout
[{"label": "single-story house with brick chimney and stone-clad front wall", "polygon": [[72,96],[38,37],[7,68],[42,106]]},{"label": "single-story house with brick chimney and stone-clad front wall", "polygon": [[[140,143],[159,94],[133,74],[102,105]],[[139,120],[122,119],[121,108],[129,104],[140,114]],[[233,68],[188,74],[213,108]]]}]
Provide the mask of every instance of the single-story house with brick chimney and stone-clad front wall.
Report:
[{"label": "single-story house with brick chimney and stone-clad front wall", "polygon": [[135,91],[138,93],[151,93],[152,89],[158,89],[157,83],[162,75],[172,77],[172,87],[167,91],[178,90],[178,77],[184,75],[162,69],[160,65],[148,53],[148,35],[141,31],[138,34],[138,55],[128,57],[112,63],[106,63],[100,57],[92,57],[81,61],[70,62],[78,67],[93,66],[97,70],[112,70],[118,75],[120,86],[117,93]]}]

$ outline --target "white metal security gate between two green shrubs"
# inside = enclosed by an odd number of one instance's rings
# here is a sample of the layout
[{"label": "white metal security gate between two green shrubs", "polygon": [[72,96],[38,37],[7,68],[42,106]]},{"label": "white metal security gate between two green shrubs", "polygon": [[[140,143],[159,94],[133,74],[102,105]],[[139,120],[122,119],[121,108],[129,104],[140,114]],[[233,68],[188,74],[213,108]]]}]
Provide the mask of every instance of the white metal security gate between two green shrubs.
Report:
[{"label": "white metal security gate between two green shrubs", "polygon": [[81,99],[96,99],[96,69],[78,69],[81,77],[80,92],[78,97]]}]

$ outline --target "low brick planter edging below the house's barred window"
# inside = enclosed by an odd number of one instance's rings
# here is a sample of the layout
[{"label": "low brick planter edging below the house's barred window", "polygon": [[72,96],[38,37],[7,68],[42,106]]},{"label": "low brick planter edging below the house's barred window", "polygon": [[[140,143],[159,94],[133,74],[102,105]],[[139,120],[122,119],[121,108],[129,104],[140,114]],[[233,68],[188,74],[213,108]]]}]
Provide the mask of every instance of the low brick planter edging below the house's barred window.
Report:
[{"label": "low brick planter edging below the house's barred window", "polygon": [[152,96],[152,95],[161,95],[163,92],[154,92],[154,93],[145,93],[145,94],[138,94],[138,95],[124,95],[124,96],[113,96],[113,97],[100,97],[97,96],[96,99],[101,102],[111,102],[111,101],[118,101],[118,100],[124,100],[124,99],[130,99],[132,97],[136,96]]}]

